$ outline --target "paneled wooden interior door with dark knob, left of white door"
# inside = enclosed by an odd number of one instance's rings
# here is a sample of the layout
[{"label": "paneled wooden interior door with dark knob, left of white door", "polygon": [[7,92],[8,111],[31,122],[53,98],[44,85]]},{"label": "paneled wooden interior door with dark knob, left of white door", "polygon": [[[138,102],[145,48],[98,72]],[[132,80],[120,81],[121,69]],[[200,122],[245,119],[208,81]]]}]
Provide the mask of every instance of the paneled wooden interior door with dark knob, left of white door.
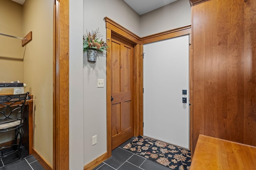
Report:
[{"label": "paneled wooden interior door with dark knob, left of white door", "polygon": [[112,150],[134,136],[133,58],[133,44],[112,35]]}]

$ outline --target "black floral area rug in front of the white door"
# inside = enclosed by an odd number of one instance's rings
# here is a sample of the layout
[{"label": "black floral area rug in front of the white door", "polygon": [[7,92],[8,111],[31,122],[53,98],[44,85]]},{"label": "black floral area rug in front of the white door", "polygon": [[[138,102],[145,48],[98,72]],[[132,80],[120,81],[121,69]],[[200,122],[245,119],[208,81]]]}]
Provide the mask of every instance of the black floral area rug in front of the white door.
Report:
[{"label": "black floral area rug in front of the white door", "polygon": [[138,136],[123,148],[173,170],[190,169],[190,150],[158,141],[156,139]]}]

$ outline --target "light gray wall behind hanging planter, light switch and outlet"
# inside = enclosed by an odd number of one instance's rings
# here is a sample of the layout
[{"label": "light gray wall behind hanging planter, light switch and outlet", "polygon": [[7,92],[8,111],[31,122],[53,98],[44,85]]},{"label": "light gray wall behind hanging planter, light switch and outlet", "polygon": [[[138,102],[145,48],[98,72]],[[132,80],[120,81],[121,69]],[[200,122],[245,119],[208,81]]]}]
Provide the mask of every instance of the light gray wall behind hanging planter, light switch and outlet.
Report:
[{"label": "light gray wall behind hanging planter, light switch and outlet", "polygon": [[[84,33],[99,28],[102,38],[106,39],[103,20],[106,16],[139,34],[139,15],[122,0],[84,0]],[[83,64],[84,164],[87,164],[106,152],[106,56],[98,57],[96,63],[88,63],[85,53]],[[97,88],[98,78],[104,79],[104,88]],[[94,135],[97,135],[97,144],[92,146]]]}]

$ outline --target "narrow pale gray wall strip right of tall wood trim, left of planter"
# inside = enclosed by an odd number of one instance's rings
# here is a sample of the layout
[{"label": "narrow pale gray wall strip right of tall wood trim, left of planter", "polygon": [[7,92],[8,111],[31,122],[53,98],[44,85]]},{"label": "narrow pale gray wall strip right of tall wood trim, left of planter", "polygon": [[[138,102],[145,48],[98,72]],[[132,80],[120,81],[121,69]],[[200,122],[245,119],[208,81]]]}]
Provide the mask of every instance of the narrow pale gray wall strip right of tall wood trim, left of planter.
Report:
[{"label": "narrow pale gray wall strip right of tall wood trim, left of planter", "polygon": [[83,0],[69,3],[69,169],[84,167]]}]

